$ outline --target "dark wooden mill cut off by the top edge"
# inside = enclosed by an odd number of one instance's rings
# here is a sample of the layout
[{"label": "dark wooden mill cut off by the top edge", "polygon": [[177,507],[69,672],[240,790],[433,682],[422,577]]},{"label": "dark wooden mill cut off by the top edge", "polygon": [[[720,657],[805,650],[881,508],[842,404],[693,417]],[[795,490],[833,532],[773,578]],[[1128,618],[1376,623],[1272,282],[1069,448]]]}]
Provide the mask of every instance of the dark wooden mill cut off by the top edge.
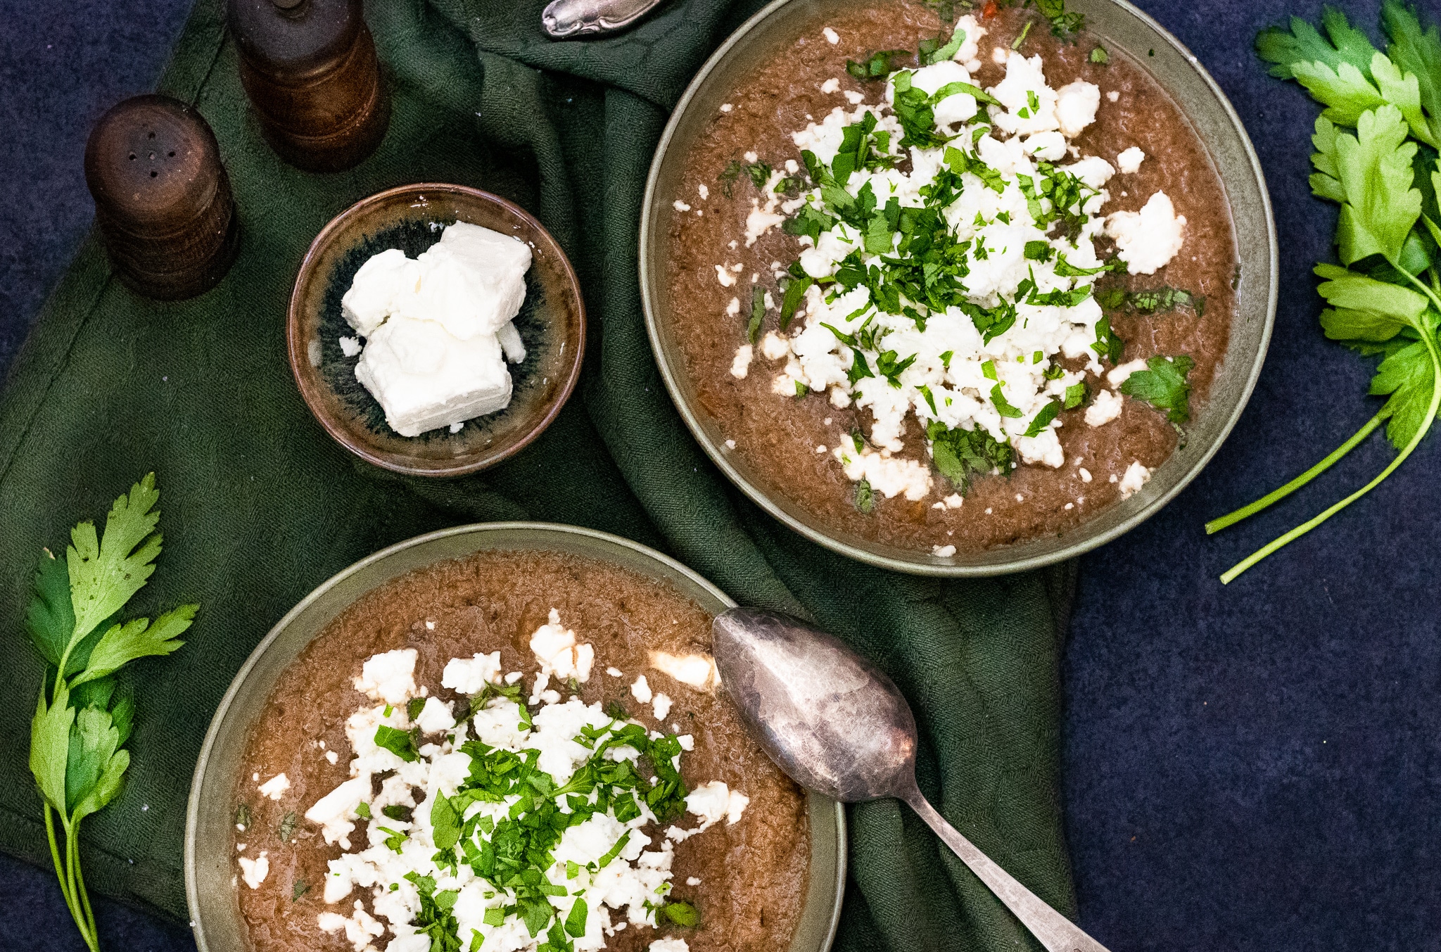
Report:
[{"label": "dark wooden mill cut off by the top edge", "polygon": [[241,84],[280,157],[339,171],[375,151],[391,122],[360,0],[229,0]]}]

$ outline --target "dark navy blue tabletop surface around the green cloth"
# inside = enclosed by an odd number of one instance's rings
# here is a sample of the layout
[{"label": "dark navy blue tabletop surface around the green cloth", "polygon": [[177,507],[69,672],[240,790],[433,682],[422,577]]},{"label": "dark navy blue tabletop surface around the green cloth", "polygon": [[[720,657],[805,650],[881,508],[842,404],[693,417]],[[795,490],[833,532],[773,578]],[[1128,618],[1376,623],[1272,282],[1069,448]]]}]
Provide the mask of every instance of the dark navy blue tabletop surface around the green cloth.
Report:
[{"label": "dark navy blue tabletop surface around the green cloth", "polygon": [[[1065,805],[1081,923],[1112,952],[1441,949],[1441,441],[1229,586],[1216,576],[1362,485],[1373,436],[1275,510],[1206,518],[1356,431],[1370,362],[1324,340],[1310,268],[1336,210],[1306,179],[1319,111],[1267,76],[1257,30],[1319,0],[1141,1],[1235,104],[1265,167],[1281,302],[1265,372],[1210,467],[1082,560],[1065,663]],[[1343,9],[1375,35],[1379,0]],[[1422,0],[1441,19],[1441,3]],[[89,226],[85,135],[151,88],[187,0],[0,0],[0,372]],[[14,634],[12,632],[12,635]],[[0,857],[0,949],[79,952],[49,870]],[[108,949],[193,949],[99,900]]]}]

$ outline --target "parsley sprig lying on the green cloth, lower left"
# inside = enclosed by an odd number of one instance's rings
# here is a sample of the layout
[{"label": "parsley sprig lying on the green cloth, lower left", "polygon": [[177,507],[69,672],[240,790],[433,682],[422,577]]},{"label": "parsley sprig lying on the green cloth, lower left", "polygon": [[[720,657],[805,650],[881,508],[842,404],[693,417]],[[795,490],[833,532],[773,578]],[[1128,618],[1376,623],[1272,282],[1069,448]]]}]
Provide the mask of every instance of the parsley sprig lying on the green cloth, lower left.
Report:
[{"label": "parsley sprig lying on the green cloth, lower left", "polygon": [[[49,549],[35,572],[26,628],[45,658],[45,678],[30,722],[30,773],[45,801],[45,834],[61,893],[85,945],[99,949],[95,913],[81,873],[79,828],[85,817],[120,794],[130,766],[124,749],[135,703],[115,673],[135,658],[179,648],[196,605],[182,605],[154,622],[118,621],[160,554],[156,475],[130,487],[105,517],[105,533],[79,523],[65,560]],[[56,817],[59,830],[56,830]]]}]

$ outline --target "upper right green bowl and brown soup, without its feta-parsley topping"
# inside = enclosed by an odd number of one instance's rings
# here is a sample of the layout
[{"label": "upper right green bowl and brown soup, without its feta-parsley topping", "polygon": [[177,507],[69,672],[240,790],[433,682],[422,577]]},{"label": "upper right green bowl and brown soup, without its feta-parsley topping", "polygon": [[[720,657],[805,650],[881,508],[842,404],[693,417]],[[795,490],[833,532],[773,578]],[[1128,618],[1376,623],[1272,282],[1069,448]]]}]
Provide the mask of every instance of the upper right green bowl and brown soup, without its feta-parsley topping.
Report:
[{"label": "upper right green bowl and brown soup, without its feta-parsley topping", "polygon": [[[997,84],[1019,43],[1022,55],[1042,58],[1052,88],[1099,88],[1095,122],[1072,143],[1123,170],[1121,151],[1136,147],[1146,156],[1138,170],[1110,180],[1104,210],[1137,210],[1164,190],[1187,219],[1180,252],[1159,272],[1104,277],[1121,295],[1105,307],[1125,341],[1114,363],[1185,353],[1195,367],[1189,418],[1179,426],[1136,399],[1098,426],[1084,422],[1087,408],[1066,409],[1055,431],[1065,449],[1059,468],[1019,465],[974,480],[964,497],[938,470],[931,470],[934,488],[916,500],[863,493],[843,472],[840,454],[850,441],[865,449],[870,412],[839,408],[824,393],[777,395],[784,357],[768,363],[762,353],[774,331],[784,340],[777,305],[803,243],[784,228],[755,241],[752,213],[785,212],[762,205],[757,184],[782,169],[804,183],[791,134],[836,107],[879,102],[885,81],[852,75],[847,60],[863,73],[859,66],[875,50],[944,43],[954,23],[942,23],[935,4],[778,0],[706,62],[661,135],[640,232],[646,324],[661,376],[720,471],[764,510],[836,552],[938,576],[999,575],[1074,557],[1174,498],[1251,396],[1277,294],[1275,228],[1251,141],[1215,81],[1153,19],[1121,0],[1068,0],[1066,10],[1084,14],[1085,27],[1062,40],[1033,4],[990,17],[977,4],[970,14],[986,35],[970,62],[974,84]],[[909,56],[893,68],[914,66]],[[742,354],[752,304],[761,323],[754,353]],[[1105,385],[1088,379],[1088,386]],[[915,422],[908,419],[902,455],[928,468]],[[1125,478],[1133,464],[1144,482],[1137,472]]]}]

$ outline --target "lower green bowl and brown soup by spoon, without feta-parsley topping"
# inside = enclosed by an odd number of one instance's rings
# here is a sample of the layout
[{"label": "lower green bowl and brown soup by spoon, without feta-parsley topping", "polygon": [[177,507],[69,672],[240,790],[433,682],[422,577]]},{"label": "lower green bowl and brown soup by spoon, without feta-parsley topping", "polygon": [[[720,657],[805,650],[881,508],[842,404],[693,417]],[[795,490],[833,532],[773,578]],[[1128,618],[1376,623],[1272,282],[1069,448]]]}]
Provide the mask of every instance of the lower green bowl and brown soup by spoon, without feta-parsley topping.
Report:
[{"label": "lower green bowl and brown soup by spoon, without feta-parsley topping", "polygon": [[[692,752],[680,760],[690,788],[728,778],[732,791],[751,796],[735,822],[720,821],[674,844],[669,897],[690,902],[700,922],[677,930],[663,919],[661,926],[697,952],[736,948],[732,940],[824,952],[846,879],[840,804],[780,773],[745,735],[723,687],[693,688],[648,670],[656,697],[666,691],[673,699],[666,713],[630,693],[646,664],[637,652],[660,647],[672,657],[699,657],[687,652],[706,652],[710,619],[733,605],[690,569],[644,546],[543,523],[431,533],[334,576],[261,641],[210,723],[186,815],[186,899],[196,945],[202,952],[349,949],[344,932],[327,933],[317,923],[324,913],[350,913],[370,890],[326,902],[327,861],[342,847],[324,840],[304,814],[347,776],[344,719],[373,703],[353,686],[353,675],[367,657],[409,647],[419,657],[415,680],[440,699],[448,694],[437,690],[445,658],[499,650],[507,667],[523,667],[525,632],[558,608],[595,652],[589,680],[571,691],[588,704],[623,703],[650,730],[692,735]],[[612,665],[624,668],[624,677],[612,674],[620,670]],[[530,678],[523,684],[529,690]],[[653,713],[664,723],[650,724]],[[687,775],[695,771],[706,776]],[[277,785],[280,773],[285,781]],[[676,822],[692,821],[687,815]],[[267,870],[255,881],[262,853]],[[663,935],[670,933],[631,923],[607,948],[646,948]],[[389,939],[386,932],[375,943]],[[468,940],[463,936],[463,948]]]}]

